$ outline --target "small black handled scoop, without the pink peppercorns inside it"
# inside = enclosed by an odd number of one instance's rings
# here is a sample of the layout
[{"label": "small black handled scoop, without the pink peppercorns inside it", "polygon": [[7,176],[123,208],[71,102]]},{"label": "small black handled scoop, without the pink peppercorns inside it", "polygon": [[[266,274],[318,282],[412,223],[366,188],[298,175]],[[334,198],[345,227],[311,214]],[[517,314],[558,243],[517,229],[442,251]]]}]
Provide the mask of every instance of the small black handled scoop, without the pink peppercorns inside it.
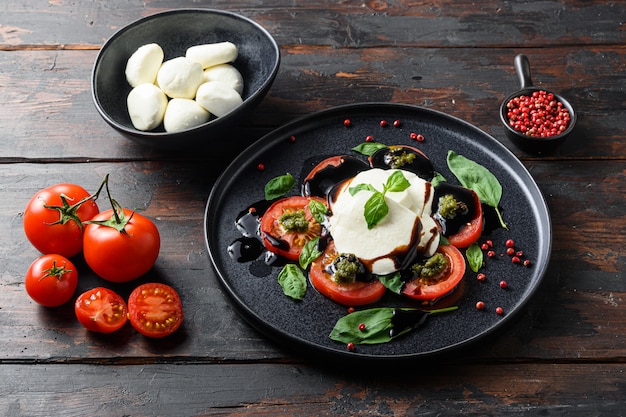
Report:
[{"label": "small black handled scoop, without the pink peppercorns inside it", "polygon": [[[511,140],[511,142],[513,142],[513,144],[515,144],[523,151],[537,154],[553,151],[565,141],[565,139],[574,129],[574,125],[576,124],[576,112],[574,111],[574,108],[569,103],[569,101],[565,100],[559,94],[546,90],[545,88],[533,87],[533,82],[530,75],[530,64],[528,63],[528,58],[525,55],[517,55],[515,57],[514,64],[521,89],[509,95],[500,105],[500,120],[504,125],[506,135]],[[507,108],[507,104],[509,103],[509,101],[511,101],[515,97],[532,95],[532,93],[535,91],[550,92],[554,95],[554,98],[556,100],[563,103],[563,106],[567,109],[570,115],[569,124],[567,125],[567,129],[565,129],[565,131],[554,136],[536,137],[518,132],[509,125]]]}]

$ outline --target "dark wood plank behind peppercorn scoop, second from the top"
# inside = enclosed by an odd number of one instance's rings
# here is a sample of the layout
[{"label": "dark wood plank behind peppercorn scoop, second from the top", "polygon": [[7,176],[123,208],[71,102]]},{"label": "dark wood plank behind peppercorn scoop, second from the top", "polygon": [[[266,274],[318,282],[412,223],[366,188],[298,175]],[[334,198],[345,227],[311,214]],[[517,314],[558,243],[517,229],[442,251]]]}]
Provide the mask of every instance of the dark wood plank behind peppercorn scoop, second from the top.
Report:
[{"label": "dark wood plank behind peppercorn scoop, second from the top", "polygon": [[[513,58],[520,50],[374,48],[283,49],[281,69],[266,99],[228,138],[210,138],[193,158],[215,154],[212,143],[234,149],[296,117],[335,105],[379,101],[420,105],[466,120],[519,156],[505,137],[498,110],[518,89]],[[578,126],[559,158],[624,158],[623,48],[527,49],[535,85],[567,97]],[[90,70],[96,51],[0,52],[0,158],[118,160],[173,158],[122,138],[98,115]],[[187,153],[183,155],[189,158]]]}]

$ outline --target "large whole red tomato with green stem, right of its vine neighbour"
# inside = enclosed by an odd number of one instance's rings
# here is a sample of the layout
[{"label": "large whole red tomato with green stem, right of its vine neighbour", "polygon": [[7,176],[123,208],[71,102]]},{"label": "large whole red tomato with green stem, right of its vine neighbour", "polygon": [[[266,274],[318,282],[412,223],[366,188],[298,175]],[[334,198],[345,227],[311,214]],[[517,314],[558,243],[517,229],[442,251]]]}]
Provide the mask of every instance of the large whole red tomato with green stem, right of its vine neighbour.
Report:
[{"label": "large whole red tomato with green stem, right of its vine neighbour", "polygon": [[119,221],[109,209],[87,224],[83,252],[87,264],[100,277],[128,282],[152,268],[159,256],[161,238],[147,217],[129,209],[117,213]]}]

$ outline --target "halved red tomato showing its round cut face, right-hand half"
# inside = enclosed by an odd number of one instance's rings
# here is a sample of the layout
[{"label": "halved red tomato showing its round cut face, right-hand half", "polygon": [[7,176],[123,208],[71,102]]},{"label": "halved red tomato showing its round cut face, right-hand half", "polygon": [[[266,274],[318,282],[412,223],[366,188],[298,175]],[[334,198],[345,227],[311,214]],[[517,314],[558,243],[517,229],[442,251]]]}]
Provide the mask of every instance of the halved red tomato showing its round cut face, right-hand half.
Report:
[{"label": "halved red tomato showing its round cut face, right-hand half", "polygon": [[138,286],[128,298],[130,324],[148,337],[165,337],[183,322],[183,305],[169,285],[149,283]]}]

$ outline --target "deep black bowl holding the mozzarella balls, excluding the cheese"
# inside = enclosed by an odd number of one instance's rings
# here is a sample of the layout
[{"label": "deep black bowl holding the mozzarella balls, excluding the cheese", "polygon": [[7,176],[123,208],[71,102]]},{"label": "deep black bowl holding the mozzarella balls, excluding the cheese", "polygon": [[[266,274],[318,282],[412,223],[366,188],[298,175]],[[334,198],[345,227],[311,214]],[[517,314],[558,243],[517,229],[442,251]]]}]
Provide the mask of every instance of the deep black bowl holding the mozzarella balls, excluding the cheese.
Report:
[{"label": "deep black bowl holding the mozzarella balls, excluding the cheese", "polygon": [[[126,81],[125,68],[137,48],[157,43],[163,49],[164,59],[168,60],[184,56],[190,46],[224,41],[238,48],[233,65],[244,80],[241,105],[222,117],[180,132],[168,133],[162,126],[149,132],[133,127],[126,105],[131,87]],[[105,42],[93,67],[92,96],[104,120],[128,139],[160,148],[185,150],[219,139],[228,127],[248,116],[267,94],[279,65],[278,45],[258,23],[225,11],[171,10],[141,18]]]}]

